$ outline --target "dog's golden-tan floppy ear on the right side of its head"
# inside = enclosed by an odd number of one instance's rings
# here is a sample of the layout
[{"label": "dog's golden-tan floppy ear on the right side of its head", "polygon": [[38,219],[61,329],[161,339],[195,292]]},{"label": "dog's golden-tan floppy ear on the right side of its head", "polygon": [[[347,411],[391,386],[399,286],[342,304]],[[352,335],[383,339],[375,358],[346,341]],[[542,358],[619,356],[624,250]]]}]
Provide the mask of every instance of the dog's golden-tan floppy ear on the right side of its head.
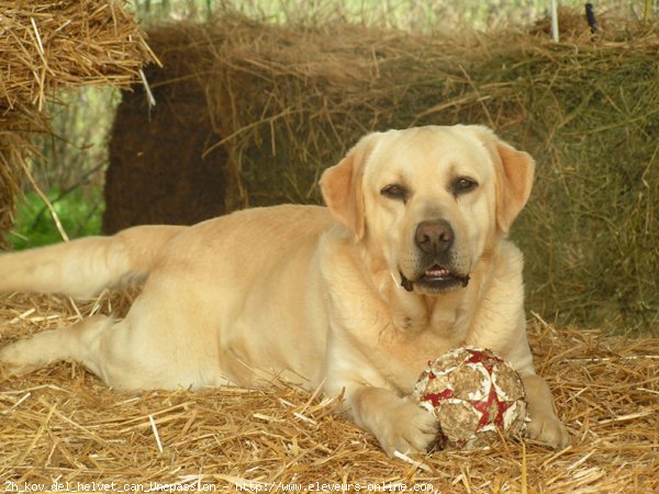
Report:
[{"label": "dog's golden-tan floppy ear on the right side of its head", "polygon": [[506,234],[530,195],[535,161],[528,153],[515,149],[490,128],[478,128],[494,161],[496,226]]}]

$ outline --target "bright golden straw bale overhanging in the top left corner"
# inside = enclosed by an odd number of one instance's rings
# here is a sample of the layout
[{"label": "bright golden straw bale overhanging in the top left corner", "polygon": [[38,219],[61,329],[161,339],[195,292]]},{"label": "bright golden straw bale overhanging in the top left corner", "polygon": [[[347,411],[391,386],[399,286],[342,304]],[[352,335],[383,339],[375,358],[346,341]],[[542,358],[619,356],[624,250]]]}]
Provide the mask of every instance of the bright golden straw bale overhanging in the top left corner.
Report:
[{"label": "bright golden straw bale overhanging in the top left corner", "polygon": [[64,88],[129,87],[154,59],[125,0],[3,1],[0,106],[40,111]]}]

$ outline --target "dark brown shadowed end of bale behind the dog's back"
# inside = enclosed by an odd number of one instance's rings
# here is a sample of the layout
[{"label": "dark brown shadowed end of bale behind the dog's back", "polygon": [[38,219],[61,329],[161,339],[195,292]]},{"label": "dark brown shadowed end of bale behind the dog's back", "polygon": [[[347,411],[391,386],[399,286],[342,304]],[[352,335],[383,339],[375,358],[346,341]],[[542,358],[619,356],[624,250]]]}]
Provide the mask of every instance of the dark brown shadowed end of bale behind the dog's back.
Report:
[{"label": "dark brown shadowed end of bale behind the dog's back", "polygon": [[149,110],[143,94],[124,92],[116,110],[104,184],[107,234],[142,224],[191,225],[225,212],[226,154],[219,148],[203,156],[211,135],[205,106],[158,101]]}]

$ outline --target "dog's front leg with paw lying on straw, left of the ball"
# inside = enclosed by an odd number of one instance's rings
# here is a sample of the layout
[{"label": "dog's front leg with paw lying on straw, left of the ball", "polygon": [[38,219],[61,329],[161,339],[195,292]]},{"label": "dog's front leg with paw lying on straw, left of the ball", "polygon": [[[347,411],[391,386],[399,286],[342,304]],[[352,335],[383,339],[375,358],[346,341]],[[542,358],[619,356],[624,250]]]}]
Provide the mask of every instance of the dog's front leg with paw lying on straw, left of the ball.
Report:
[{"label": "dog's front leg with paw lying on straw, left of the ball", "polygon": [[388,454],[426,452],[437,439],[433,414],[383,388],[359,386],[347,393],[347,412],[369,430]]}]

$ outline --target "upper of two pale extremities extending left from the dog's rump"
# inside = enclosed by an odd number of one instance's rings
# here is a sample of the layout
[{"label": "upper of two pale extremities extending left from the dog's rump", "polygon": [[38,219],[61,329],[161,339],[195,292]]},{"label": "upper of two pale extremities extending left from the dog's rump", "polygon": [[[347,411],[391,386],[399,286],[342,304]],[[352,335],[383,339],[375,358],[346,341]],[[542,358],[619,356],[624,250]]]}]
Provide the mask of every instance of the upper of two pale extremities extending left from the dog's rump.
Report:
[{"label": "upper of two pale extremities extending left from the dog's rump", "polygon": [[186,226],[135,226],[110,237],[87,237],[0,255],[0,292],[93,296],[144,280],[158,250]]}]

